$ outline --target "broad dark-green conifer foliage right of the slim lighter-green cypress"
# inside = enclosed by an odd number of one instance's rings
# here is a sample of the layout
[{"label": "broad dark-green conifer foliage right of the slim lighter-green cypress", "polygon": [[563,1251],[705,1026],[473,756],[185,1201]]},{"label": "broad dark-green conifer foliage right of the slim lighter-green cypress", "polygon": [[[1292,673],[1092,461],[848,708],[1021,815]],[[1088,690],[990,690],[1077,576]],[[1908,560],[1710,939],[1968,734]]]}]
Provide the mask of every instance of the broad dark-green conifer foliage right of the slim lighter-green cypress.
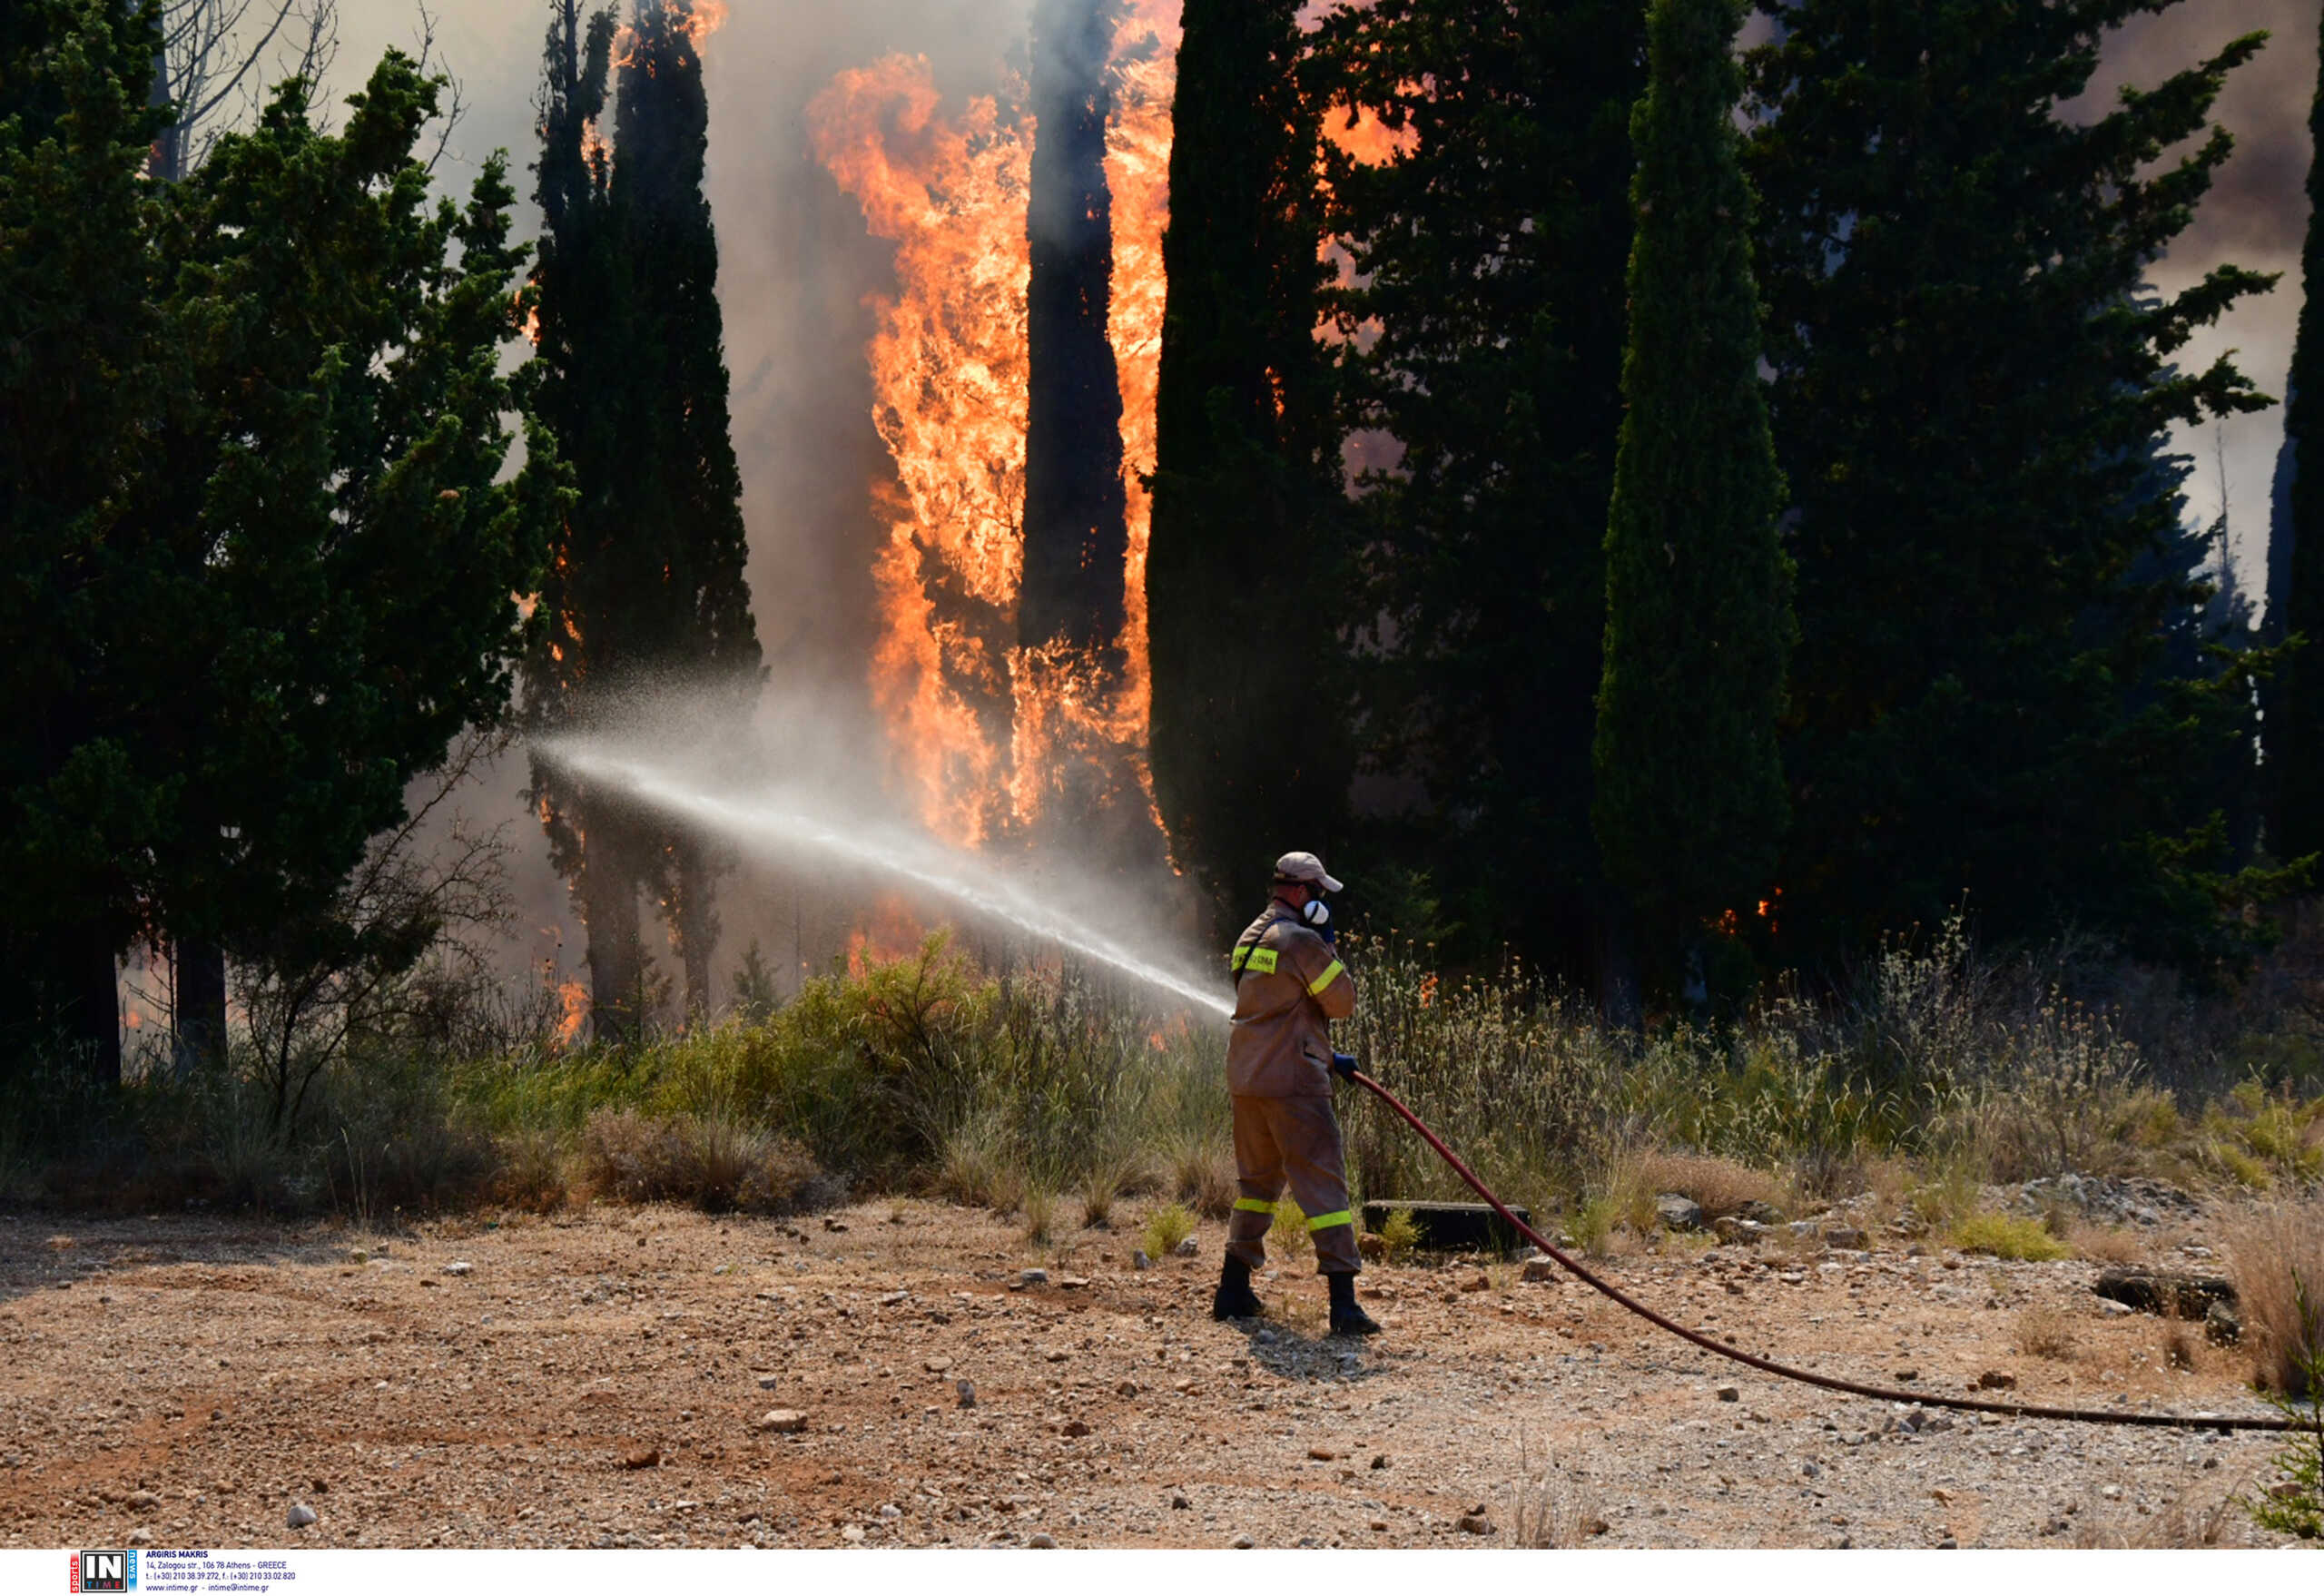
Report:
[{"label": "broad dark-green conifer foliage right of the slim lighter-green cypress", "polygon": [[[1748,167],[1801,646],[1785,771],[1794,952],[2073,920],[2143,955],[2243,941],[2252,676],[2201,620],[2166,432],[2268,404],[2166,360],[2268,276],[2145,290],[2261,35],[2092,121],[2059,114],[2145,0],[1764,0]],[[2166,151],[2196,139],[2194,149]]]}]

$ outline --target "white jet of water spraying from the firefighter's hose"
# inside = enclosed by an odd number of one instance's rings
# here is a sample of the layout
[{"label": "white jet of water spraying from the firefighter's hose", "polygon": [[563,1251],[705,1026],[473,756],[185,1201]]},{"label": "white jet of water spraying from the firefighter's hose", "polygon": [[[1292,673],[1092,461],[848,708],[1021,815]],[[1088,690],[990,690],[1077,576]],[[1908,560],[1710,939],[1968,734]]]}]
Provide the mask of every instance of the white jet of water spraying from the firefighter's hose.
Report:
[{"label": "white jet of water spraying from the firefighter's hose", "polygon": [[969,913],[1013,925],[1076,957],[1106,964],[1148,987],[1169,992],[1195,1008],[1227,1018],[1234,1004],[1218,990],[1143,959],[1118,941],[1095,932],[1088,920],[1060,913],[1020,885],[964,853],[930,836],[881,834],[860,822],[839,825],[781,797],[753,797],[704,788],[688,774],[655,764],[632,750],[604,750],[588,743],[551,741],[541,753],[590,781],[623,788],[632,797],[667,813],[697,820],[718,834],[760,853],[820,853],[846,864],[881,871],[948,897]]}]

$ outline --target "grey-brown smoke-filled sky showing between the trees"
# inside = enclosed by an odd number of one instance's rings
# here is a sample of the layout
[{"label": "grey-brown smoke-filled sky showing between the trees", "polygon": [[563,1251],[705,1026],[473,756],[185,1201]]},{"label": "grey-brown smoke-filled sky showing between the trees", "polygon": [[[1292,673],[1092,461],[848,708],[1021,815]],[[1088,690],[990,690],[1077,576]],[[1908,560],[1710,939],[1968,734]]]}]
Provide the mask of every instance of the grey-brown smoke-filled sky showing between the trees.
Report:
[{"label": "grey-brown smoke-filled sky showing between the trees", "polygon": [[[1030,0],[730,0],[709,39],[711,204],[718,218],[720,300],[734,376],[734,446],[746,481],[751,585],[760,634],[779,676],[848,692],[860,669],[844,646],[865,637],[874,523],[862,483],[878,467],[860,348],[869,332],[860,300],[883,272],[883,249],[865,237],[853,207],[813,165],[804,107],[834,72],[885,51],[925,53],[948,93],[990,88],[1004,53],[1023,51]],[[548,0],[437,0],[437,42],[460,77],[467,116],[444,177],[465,181],[495,146],[516,160],[518,188],[532,160],[532,93]],[[2187,0],[2143,16],[2108,49],[2092,100],[2122,84],[2152,84],[2252,28],[2273,42],[2236,74],[2219,121],[2236,156],[2196,225],[2157,263],[2164,290],[2233,260],[2284,272],[2284,283],[2245,302],[2182,358],[2236,348],[2245,372],[2282,393],[2298,316],[2298,249],[2308,218],[2308,100],[2317,72],[2317,0]],[[346,0],[335,79],[351,88],[388,44],[409,44],[416,0]],[[2092,102],[2075,107],[2092,114]],[[2266,411],[2180,439],[2196,455],[2194,513],[2226,504],[2247,583],[2259,581],[2268,479],[2282,439]]]}]

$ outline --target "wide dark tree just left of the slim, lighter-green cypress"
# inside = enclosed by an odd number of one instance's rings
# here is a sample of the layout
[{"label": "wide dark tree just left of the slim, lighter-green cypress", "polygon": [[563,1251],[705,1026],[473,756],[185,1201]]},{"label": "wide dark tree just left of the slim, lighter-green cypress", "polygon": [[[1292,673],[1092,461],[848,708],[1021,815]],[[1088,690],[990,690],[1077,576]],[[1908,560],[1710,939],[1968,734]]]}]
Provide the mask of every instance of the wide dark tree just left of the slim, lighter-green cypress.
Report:
[{"label": "wide dark tree just left of the slim, lighter-green cypress", "polygon": [[1362,753],[1401,778],[1371,788],[1367,834],[1425,876],[1383,918],[1455,957],[1513,941],[1590,980],[1645,5],[1380,0],[1332,19],[1318,53],[1332,116],[1357,107],[1404,144],[1332,167],[1343,425],[1392,446],[1362,476],[1362,555],[1325,613],[1364,623]]}]

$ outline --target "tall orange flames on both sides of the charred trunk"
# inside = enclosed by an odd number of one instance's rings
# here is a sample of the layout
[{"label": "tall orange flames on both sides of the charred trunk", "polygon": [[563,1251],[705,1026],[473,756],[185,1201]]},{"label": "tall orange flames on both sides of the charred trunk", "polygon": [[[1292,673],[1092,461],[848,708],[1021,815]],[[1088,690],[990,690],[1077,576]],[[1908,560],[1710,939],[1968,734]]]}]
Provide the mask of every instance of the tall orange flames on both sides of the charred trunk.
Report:
[{"label": "tall orange flames on both sides of the charred trunk", "polygon": [[[1148,42],[1153,44],[1148,49]],[[1136,0],[1116,53],[1106,135],[1113,197],[1109,342],[1127,490],[1120,671],[1071,648],[1020,648],[1025,537],[1025,288],[1032,125],[971,100],[957,116],[920,56],[841,72],[809,107],[816,156],[895,244],[897,293],[871,302],[874,425],[902,486],[874,560],[871,692],[895,767],[937,834],[978,846],[1027,827],[1069,757],[1146,774],[1146,541],[1162,225],[1178,5]],[[1106,792],[1104,799],[1127,797]],[[1150,813],[1150,792],[1141,792]]]}]

